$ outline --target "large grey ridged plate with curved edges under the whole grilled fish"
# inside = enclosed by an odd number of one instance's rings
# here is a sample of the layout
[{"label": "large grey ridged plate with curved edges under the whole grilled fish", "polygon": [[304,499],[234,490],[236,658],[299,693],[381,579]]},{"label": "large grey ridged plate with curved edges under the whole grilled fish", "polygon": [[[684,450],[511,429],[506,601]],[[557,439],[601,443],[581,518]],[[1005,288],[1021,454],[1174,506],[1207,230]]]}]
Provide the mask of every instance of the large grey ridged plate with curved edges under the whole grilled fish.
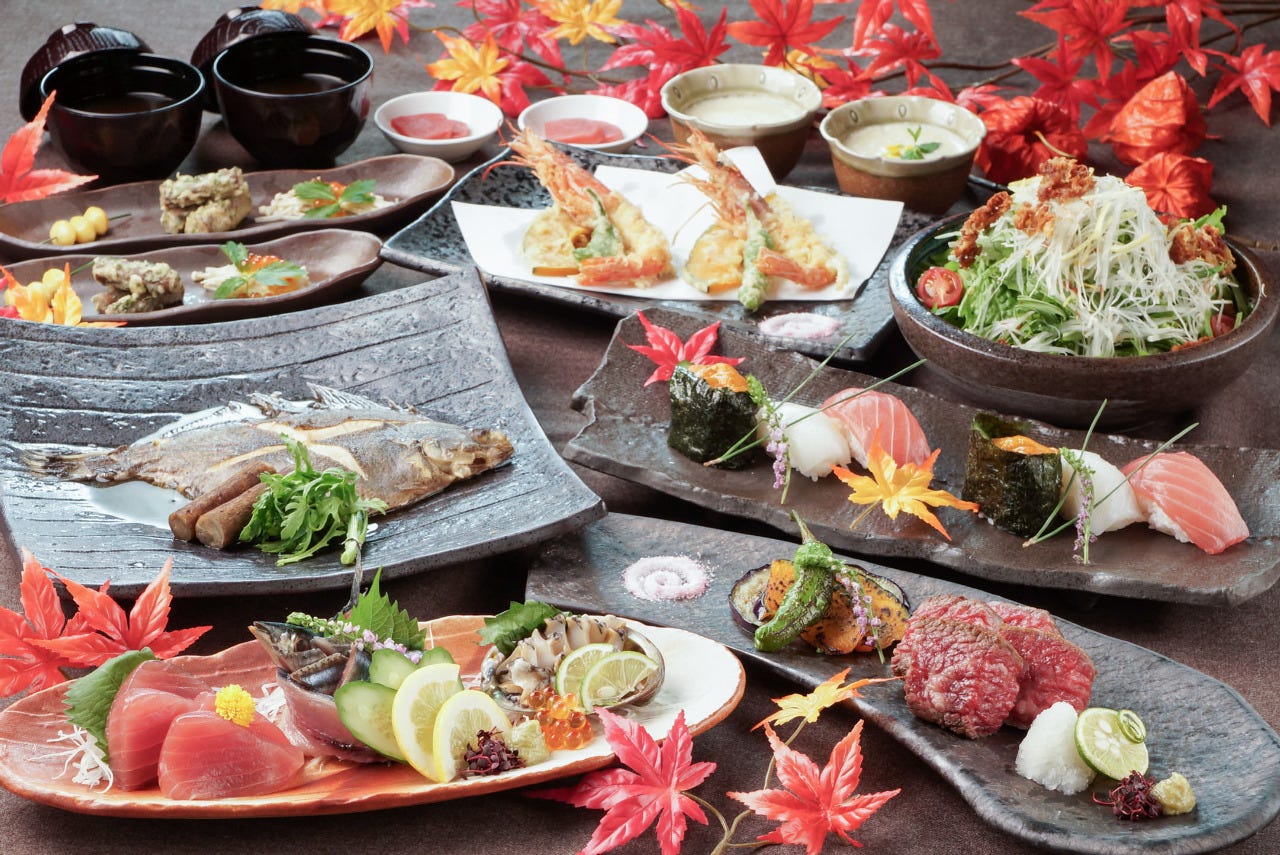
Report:
[{"label": "large grey ridged plate with curved edges under the whole grilled fish", "polygon": [[[102,330],[9,324],[0,339],[0,438],[113,447],[253,390],[310,398],[307,383],[412,403],[465,426],[497,426],[512,461],[375,518],[365,566],[404,576],[536,543],[604,513],[530,412],[484,289],[460,273],[311,312],[228,324]],[[346,587],[329,549],[276,567],[252,549],[216,552],[97,509],[81,484],[35,477],[0,445],[10,549],[84,585],[132,595],[174,559],[179,595]]]}]

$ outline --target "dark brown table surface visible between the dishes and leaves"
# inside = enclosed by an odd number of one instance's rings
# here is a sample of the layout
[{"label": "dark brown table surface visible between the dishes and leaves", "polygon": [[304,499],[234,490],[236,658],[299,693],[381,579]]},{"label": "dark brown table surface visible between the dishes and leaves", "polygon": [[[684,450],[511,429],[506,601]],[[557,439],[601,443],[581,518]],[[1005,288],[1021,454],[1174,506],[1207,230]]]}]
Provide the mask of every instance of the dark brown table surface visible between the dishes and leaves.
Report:
[{"label": "dark brown table surface visible between the dishes and leaves", "polygon": [[[1025,6],[1021,3],[995,0],[984,4],[932,5],[945,55],[951,60],[974,64],[1004,60],[1047,41],[1047,31],[1014,14]],[[20,124],[17,109],[19,72],[27,56],[58,26],[72,20],[95,20],[129,28],[150,41],[156,52],[186,58],[224,8],[223,4],[206,0],[116,0],[113,4],[22,0],[5,4],[5,29],[0,36],[5,50],[0,52],[0,79],[8,81],[10,90],[8,106],[0,111],[0,133],[8,136]],[[659,13],[657,6],[623,10],[631,18],[657,17]],[[837,13],[851,15],[852,6],[819,6],[818,14],[826,17]],[[468,14],[452,4],[439,3],[434,10],[416,12],[413,20],[424,27],[461,24]],[[730,5],[730,14],[732,19],[751,13],[748,4],[739,1]],[[993,22],[998,22],[998,26],[992,26]],[[1272,23],[1266,29],[1251,33],[1251,40],[1260,37],[1266,37],[1268,46],[1275,47],[1280,44],[1280,26]],[[390,55],[384,55],[375,41],[366,42],[366,46],[375,54],[378,63],[375,106],[393,95],[430,87],[431,81],[422,70],[422,61],[439,54],[434,36],[415,33],[410,45],[397,44]],[[755,61],[754,54],[741,47],[731,56]],[[964,73],[955,72],[947,73],[947,78],[954,84],[963,84],[973,79],[973,74],[965,77]],[[654,129],[664,133],[659,123],[654,123]],[[1198,154],[1212,160],[1216,166],[1213,196],[1229,205],[1231,232],[1254,244],[1276,247],[1280,244],[1280,214],[1276,212],[1275,198],[1280,195],[1280,172],[1275,169],[1275,134],[1257,120],[1239,96],[1229,99],[1210,114],[1208,131],[1221,138],[1211,138]],[[346,163],[390,151],[390,145],[370,120],[356,145],[340,160]],[[1108,165],[1101,151],[1094,155],[1100,165]],[[42,154],[42,163],[45,161],[56,163],[50,145],[46,145]],[[186,170],[237,161],[248,164],[244,154],[237,151],[221,127],[206,118],[205,133],[186,164]],[[817,134],[800,169],[788,180],[797,184],[832,183],[829,161]],[[1280,252],[1263,248],[1258,255],[1268,278],[1276,282],[1280,275]],[[366,289],[385,291],[413,284],[420,279],[420,274],[384,265]],[[582,424],[582,416],[568,406],[570,397],[596,366],[609,340],[612,323],[599,316],[504,294],[492,294],[492,301],[525,397],[552,443],[561,448]],[[1167,435],[1172,433],[1171,427],[1198,420],[1201,427],[1194,435],[1196,442],[1239,445],[1244,449],[1280,448],[1277,344],[1280,342],[1274,337],[1267,353],[1226,388],[1207,389],[1203,406],[1194,413],[1170,420],[1170,424],[1149,425],[1144,433],[1153,436]],[[908,348],[895,333],[874,360],[859,367],[884,375],[906,365],[910,358]],[[946,394],[927,367],[911,375],[909,383]],[[1248,451],[1242,453],[1247,454]],[[717,517],[644,488],[589,470],[577,471],[612,511],[760,532],[748,523]],[[24,545],[38,554],[40,544]],[[483,563],[433,571],[397,581],[390,593],[424,618],[499,609],[508,599],[522,596],[525,570],[536,554],[538,549],[531,548]],[[1042,605],[1091,630],[1171,657],[1233,686],[1272,727],[1280,723],[1280,668],[1275,663],[1276,651],[1280,650],[1280,589],[1272,589],[1235,608],[1211,611],[1138,600],[1082,598],[1034,587],[982,585],[937,567],[902,566]],[[17,579],[13,554],[6,552],[0,555],[0,605],[18,608]],[[274,618],[292,609],[332,612],[337,605],[333,599],[329,595],[306,595],[289,599],[260,596],[182,600],[174,605],[170,626],[214,625],[215,628],[196,650],[207,653],[243,640],[242,627],[255,618]],[[763,739],[759,733],[749,733],[749,728],[774,709],[771,698],[794,690],[794,685],[756,667],[748,668],[746,696],[739,710],[722,726],[695,741],[695,759],[713,759],[721,767],[710,782],[704,785],[703,795],[724,808],[732,804],[723,799],[726,790],[754,790],[760,786],[767,756]],[[827,713],[806,731],[803,737],[805,746],[814,756],[824,759],[829,746],[855,721],[851,712]],[[858,832],[856,837],[870,851],[1027,851],[1025,842],[987,826],[950,785],[884,733],[868,728],[863,745],[865,767],[860,790],[873,792],[902,788],[897,799]],[[1230,744],[1222,745],[1222,751],[1234,750]],[[1248,758],[1240,756],[1239,762],[1247,764]],[[1272,786],[1280,786],[1280,782]],[[507,794],[351,817],[169,823],[68,814],[0,792],[0,828],[4,829],[0,850],[23,854],[230,850],[568,854],[586,843],[598,817],[596,811]],[[759,832],[765,826],[751,828]],[[745,837],[748,835],[739,836]],[[713,838],[713,831],[694,826],[685,851],[708,851]],[[833,851],[837,847],[833,842],[827,849]],[[639,855],[657,849],[653,838],[645,836],[618,851]],[[1272,822],[1254,837],[1225,851],[1280,851],[1280,823]]]}]

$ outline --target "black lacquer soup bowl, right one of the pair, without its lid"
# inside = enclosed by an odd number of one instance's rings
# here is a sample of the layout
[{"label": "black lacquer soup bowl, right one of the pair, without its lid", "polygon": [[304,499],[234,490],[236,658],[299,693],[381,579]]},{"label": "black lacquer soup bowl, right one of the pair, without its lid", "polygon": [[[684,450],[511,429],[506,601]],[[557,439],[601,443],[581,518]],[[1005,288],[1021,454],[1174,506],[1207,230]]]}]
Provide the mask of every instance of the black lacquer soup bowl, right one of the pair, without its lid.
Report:
[{"label": "black lacquer soup bowl, right one of the pair, without its lid", "polygon": [[332,166],[369,115],[374,60],[324,36],[266,35],[214,59],[227,129],[269,166]]}]

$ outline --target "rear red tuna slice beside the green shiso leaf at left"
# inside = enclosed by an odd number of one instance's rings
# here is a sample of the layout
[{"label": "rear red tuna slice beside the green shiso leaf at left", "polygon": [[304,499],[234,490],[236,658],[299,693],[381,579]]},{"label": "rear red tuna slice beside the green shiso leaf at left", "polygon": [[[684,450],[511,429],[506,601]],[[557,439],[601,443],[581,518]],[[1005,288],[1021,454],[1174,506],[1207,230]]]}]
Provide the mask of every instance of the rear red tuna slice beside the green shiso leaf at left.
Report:
[{"label": "rear red tuna slice beside the green shiso leaf at left", "polygon": [[169,726],[178,715],[198,708],[200,701],[192,698],[157,689],[122,687],[106,715],[113,783],[122,790],[154,783]]}]

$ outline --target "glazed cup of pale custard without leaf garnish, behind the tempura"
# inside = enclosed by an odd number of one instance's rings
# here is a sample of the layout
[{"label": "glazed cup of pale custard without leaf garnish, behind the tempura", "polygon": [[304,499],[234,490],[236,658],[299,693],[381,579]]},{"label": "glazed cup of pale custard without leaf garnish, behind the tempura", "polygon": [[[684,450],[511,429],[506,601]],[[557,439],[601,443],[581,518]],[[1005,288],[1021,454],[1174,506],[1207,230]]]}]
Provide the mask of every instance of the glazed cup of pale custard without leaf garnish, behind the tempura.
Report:
[{"label": "glazed cup of pale custard without leaf garnish, behind the tempura", "polygon": [[782,179],[804,154],[822,92],[785,68],[707,65],[667,81],[662,106],[677,143],[696,129],[719,148],[755,146],[773,177]]}]

